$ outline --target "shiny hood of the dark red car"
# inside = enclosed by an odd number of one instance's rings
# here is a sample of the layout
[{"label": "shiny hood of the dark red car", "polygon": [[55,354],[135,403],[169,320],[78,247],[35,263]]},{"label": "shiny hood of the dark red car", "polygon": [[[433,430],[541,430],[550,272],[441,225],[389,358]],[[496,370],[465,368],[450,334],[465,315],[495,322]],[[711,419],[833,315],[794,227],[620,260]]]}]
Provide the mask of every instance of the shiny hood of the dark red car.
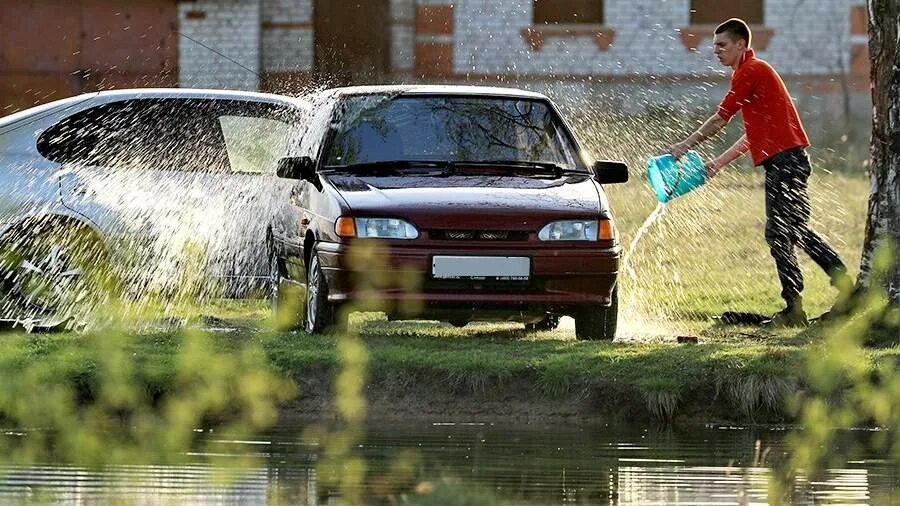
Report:
[{"label": "shiny hood of the dark red car", "polygon": [[404,218],[420,229],[533,231],[556,219],[597,218],[607,209],[586,174],[550,179],[329,175],[327,180],[353,215]]}]

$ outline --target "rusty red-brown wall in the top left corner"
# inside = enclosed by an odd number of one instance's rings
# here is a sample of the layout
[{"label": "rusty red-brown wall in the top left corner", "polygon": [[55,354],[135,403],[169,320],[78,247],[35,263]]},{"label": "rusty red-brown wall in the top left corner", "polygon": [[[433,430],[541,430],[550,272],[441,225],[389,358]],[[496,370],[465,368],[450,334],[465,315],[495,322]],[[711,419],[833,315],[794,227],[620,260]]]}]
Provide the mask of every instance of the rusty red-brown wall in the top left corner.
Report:
[{"label": "rusty red-brown wall in the top left corner", "polygon": [[178,84],[176,0],[0,0],[0,116],[98,89]]}]

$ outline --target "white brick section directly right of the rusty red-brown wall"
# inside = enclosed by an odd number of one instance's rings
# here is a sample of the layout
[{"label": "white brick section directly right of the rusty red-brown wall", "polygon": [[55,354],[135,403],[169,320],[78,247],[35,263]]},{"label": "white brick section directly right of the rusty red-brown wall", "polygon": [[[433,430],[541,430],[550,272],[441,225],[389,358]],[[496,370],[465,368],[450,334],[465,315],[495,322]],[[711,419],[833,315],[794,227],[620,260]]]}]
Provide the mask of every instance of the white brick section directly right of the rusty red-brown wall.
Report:
[{"label": "white brick section directly right of the rusty red-brown wall", "polygon": [[[192,88],[256,90],[260,70],[258,0],[196,0],[178,4],[182,33],[237,61],[245,70],[184,37],[179,40],[179,84]],[[188,12],[202,19],[188,19]],[[252,72],[251,72],[252,71]]]}]

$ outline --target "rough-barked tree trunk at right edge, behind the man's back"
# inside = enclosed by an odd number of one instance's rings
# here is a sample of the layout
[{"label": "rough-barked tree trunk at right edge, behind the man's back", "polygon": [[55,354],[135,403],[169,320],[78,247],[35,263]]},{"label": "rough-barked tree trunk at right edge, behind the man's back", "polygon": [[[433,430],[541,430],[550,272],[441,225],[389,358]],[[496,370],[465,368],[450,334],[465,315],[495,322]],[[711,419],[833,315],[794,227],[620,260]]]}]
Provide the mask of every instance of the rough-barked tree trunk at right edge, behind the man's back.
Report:
[{"label": "rough-barked tree trunk at right edge, behind the man's back", "polygon": [[859,284],[871,284],[876,250],[892,243],[895,256],[882,284],[891,300],[900,303],[900,2],[868,0],[868,7],[874,106],[872,186]]}]

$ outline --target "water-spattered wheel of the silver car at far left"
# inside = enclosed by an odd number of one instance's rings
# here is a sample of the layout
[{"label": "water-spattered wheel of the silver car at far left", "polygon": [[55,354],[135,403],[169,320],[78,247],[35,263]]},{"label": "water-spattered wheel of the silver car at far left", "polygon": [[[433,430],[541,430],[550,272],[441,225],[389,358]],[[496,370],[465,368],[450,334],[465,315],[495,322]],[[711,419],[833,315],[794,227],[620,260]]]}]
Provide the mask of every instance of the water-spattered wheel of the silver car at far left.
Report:
[{"label": "water-spattered wheel of the silver car at far left", "polygon": [[103,242],[86,227],[42,222],[5,241],[3,306],[26,330],[82,327],[119,292]]}]

